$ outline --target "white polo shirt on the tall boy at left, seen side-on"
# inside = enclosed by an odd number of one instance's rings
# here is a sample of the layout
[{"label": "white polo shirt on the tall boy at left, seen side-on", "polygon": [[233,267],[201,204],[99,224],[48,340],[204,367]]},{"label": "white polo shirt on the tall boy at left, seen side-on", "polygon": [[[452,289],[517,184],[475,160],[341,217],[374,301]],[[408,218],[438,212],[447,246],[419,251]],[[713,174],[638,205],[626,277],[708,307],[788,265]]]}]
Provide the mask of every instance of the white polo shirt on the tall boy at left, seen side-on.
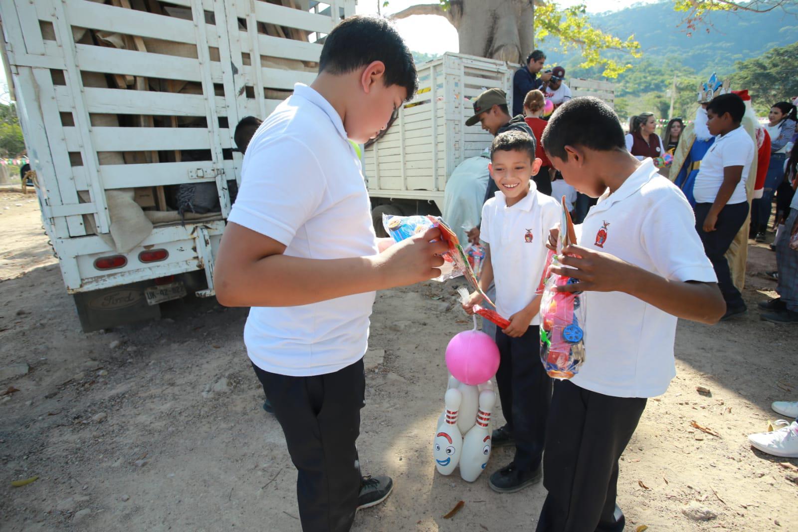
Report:
[{"label": "white polo shirt on the tall boy at left, seen side-on", "polygon": [[[288,256],[377,253],[360,160],[341,117],[314,89],[295,85],[252,137],[228,220],[285,244]],[[244,328],[247,353],[256,366],[282,375],[338,371],[365,353],[373,302],[374,292],[366,292],[253,307]]]}]

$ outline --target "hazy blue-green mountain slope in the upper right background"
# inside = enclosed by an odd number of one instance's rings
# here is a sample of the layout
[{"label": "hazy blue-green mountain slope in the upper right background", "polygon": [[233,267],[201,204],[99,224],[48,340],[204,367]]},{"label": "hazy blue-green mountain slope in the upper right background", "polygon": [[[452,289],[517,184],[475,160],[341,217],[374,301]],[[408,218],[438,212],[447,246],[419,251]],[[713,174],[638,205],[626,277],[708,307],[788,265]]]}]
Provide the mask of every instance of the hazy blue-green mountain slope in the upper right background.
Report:
[{"label": "hazy blue-green mountain slope in the upper right background", "polygon": [[[632,65],[643,61],[678,63],[679,66],[709,77],[716,72],[728,75],[734,71],[734,63],[756,58],[776,46],[787,46],[798,41],[798,18],[781,10],[769,13],[747,11],[716,12],[709,14],[709,32],[700,27],[688,35],[685,26],[680,26],[682,14],[674,11],[673,0],[654,4],[642,4],[605,14],[591,14],[591,23],[616,37],[626,39],[634,34],[640,43],[643,57],[640,59],[617,57]],[[558,53],[556,39],[545,39],[537,43],[549,52],[549,62],[571,67],[569,75],[599,77],[598,69],[577,69],[581,59],[579,53]],[[610,53],[611,54],[611,53]]]}]

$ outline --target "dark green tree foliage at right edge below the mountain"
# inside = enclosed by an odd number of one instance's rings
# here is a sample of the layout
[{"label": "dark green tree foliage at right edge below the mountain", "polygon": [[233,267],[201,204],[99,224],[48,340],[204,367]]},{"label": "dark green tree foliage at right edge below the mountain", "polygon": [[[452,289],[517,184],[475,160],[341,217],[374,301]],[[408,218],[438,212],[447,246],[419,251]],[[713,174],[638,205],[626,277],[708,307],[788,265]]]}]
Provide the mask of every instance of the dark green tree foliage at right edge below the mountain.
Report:
[{"label": "dark green tree foliage at right edge below the mountain", "polygon": [[793,43],[773,48],[759,58],[737,62],[732,88],[748,89],[754,109],[760,114],[767,113],[776,101],[798,96],[796,57],[798,43]]}]

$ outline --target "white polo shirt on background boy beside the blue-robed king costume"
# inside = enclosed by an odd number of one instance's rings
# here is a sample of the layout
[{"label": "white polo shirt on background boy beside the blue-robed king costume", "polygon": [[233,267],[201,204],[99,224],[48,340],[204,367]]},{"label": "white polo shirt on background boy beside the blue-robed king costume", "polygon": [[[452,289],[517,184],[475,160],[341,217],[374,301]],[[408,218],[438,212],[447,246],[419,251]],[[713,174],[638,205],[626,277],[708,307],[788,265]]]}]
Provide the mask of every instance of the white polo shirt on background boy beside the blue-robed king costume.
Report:
[{"label": "white polo shirt on background boy beside the blue-robed king costume", "polygon": [[745,193],[745,181],[748,179],[753,154],[753,139],[743,126],[733,129],[725,135],[715,137],[713,145],[701,160],[701,169],[698,170],[693,186],[693,197],[696,202],[714,203],[717,191],[723,184],[723,169],[726,166],[743,167],[740,182],[737,183],[732,197],[726,203],[732,205],[748,201],[748,196]]}]

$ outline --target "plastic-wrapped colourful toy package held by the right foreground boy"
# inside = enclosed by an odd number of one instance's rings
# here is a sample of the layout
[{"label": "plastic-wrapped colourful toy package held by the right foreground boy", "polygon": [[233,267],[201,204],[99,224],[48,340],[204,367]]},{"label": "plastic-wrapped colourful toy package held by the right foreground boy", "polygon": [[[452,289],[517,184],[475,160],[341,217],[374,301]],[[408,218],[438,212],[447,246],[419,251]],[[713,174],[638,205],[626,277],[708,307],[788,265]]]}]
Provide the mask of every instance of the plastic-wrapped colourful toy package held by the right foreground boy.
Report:
[{"label": "plastic-wrapped colourful toy package held by the right foreground boy", "polygon": [[558,254],[568,244],[576,242],[574,224],[565,208],[560,224],[557,254],[549,250],[538,293],[540,300],[540,360],[547,374],[554,379],[571,379],[579,373],[585,360],[585,316],[587,301],[583,292],[557,292],[557,287],[578,282],[573,277],[551,272],[560,265]]}]

